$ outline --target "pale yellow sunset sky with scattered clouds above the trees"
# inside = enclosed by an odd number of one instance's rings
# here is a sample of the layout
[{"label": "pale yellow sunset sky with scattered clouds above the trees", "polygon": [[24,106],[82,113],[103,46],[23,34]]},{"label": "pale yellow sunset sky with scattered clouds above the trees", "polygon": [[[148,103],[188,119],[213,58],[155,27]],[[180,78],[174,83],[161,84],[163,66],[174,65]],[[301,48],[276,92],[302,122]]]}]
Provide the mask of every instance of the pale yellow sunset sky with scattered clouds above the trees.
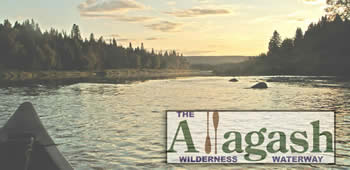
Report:
[{"label": "pale yellow sunset sky with scattered clouds above the trees", "polygon": [[256,56],[274,30],[292,38],[325,15],[326,0],[2,0],[0,20],[34,19],[42,30],[78,24],[119,45],[192,55]]}]

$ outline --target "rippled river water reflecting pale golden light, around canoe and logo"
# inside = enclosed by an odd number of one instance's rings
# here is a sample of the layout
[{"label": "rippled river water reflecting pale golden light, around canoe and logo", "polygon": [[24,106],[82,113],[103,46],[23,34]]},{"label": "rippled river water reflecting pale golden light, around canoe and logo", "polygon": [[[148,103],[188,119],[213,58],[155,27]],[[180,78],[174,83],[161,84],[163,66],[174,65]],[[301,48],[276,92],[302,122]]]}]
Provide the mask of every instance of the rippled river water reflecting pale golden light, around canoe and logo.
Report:
[{"label": "rippled river water reflecting pale golden light, around canoe and logo", "polygon": [[[238,77],[239,82],[230,83],[229,79],[0,88],[0,126],[22,102],[32,102],[75,169],[350,168],[350,81],[261,76]],[[258,81],[268,81],[270,88],[249,89]],[[165,110],[175,109],[336,110],[337,165],[166,164]]]}]

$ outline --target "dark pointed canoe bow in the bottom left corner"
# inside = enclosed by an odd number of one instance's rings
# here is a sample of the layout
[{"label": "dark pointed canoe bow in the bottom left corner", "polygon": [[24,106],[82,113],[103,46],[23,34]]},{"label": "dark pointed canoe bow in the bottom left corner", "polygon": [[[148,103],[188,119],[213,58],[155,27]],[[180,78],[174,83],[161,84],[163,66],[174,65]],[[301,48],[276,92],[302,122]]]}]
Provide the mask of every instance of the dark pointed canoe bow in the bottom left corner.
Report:
[{"label": "dark pointed canoe bow in the bottom left corner", "polygon": [[0,129],[0,169],[72,170],[31,103],[16,110]]}]

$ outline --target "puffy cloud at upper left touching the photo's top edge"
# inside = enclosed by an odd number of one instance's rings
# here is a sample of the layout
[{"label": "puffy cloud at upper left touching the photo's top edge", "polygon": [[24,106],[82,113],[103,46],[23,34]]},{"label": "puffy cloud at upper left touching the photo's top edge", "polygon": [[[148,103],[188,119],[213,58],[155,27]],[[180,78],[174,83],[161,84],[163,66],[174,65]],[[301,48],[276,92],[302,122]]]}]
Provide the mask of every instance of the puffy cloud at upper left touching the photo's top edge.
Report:
[{"label": "puffy cloud at upper left touching the photo's top edge", "polygon": [[81,13],[111,13],[127,12],[129,10],[145,9],[141,3],[134,0],[110,0],[98,3],[97,0],[86,0],[78,5]]}]

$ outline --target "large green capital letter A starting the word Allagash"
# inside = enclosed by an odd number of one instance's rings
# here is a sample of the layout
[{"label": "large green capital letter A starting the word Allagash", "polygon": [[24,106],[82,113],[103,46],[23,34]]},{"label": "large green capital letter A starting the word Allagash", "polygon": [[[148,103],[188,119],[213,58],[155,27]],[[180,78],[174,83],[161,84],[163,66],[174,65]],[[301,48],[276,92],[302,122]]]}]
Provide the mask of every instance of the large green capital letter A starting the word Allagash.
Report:
[{"label": "large green capital letter A starting the word Allagash", "polygon": [[[182,133],[184,134],[184,140],[176,139],[180,128],[182,129]],[[186,145],[187,145],[187,151],[186,152],[199,152],[199,151],[196,150],[196,147],[193,144],[191,132],[190,132],[190,129],[188,128],[188,124],[187,124],[186,120],[181,121],[179,126],[177,127],[177,130],[176,130],[176,133],[175,133],[175,137],[173,139],[173,143],[171,144],[171,147],[168,150],[168,152],[176,152],[174,150],[175,141],[186,142]]]}]

